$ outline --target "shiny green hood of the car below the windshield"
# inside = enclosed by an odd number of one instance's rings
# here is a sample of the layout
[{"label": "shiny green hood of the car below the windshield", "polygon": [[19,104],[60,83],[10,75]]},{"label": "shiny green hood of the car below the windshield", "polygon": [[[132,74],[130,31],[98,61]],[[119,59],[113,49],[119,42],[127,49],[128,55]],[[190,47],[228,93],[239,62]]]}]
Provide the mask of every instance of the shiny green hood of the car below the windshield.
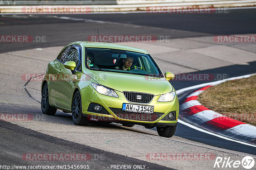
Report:
[{"label": "shiny green hood of the car below the windshield", "polygon": [[123,91],[134,91],[161,95],[169,93],[173,87],[169,81],[163,78],[153,78],[143,75],[89,71],[89,76],[97,83],[111,89]]}]

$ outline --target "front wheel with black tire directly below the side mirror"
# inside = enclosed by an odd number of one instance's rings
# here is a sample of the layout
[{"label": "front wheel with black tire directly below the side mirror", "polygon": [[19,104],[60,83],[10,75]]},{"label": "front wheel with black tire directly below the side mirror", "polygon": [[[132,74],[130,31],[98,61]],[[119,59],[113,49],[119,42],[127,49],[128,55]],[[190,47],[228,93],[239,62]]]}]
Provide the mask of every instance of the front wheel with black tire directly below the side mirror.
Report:
[{"label": "front wheel with black tire directly below the side mirror", "polygon": [[80,126],[86,126],[89,124],[89,120],[83,116],[82,103],[80,92],[77,91],[72,101],[72,120],[74,124]]}]

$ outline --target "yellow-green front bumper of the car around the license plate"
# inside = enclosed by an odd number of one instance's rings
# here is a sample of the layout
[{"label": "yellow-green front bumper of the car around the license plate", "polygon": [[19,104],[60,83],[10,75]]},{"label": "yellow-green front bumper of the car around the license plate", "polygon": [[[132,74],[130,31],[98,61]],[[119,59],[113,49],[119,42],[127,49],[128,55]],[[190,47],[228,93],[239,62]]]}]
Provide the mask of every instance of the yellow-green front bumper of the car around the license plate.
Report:
[{"label": "yellow-green front bumper of the car around the license plate", "polygon": [[[116,91],[116,90],[115,90]],[[111,97],[98,93],[91,85],[81,89],[82,112],[88,119],[97,119],[101,121],[110,121],[117,123],[131,123],[149,126],[172,126],[177,123],[179,116],[179,101],[175,96],[172,102],[157,102],[160,97],[154,96],[148,104],[131,103],[126,100],[122,92],[116,91],[119,96]],[[138,104],[144,106],[154,106],[153,113],[134,113],[123,111],[123,103]],[[100,104],[102,110],[95,111],[94,105]],[[169,118],[169,113],[173,113],[174,117]]]}]

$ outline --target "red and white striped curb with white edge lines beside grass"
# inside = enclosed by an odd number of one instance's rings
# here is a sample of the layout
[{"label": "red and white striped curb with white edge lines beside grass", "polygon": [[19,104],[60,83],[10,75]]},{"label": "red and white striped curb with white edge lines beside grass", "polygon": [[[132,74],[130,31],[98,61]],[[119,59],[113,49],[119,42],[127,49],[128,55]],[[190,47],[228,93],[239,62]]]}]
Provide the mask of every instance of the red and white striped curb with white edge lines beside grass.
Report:
[{"label": "red and white striped curb with white edge lines beside grass", "polygon": [[[224,81],[235,80],[250,77],[255,74],[249,74],[239,77],[233,77],[221,81],[214,81],[210,83],[204,83],[201,85],[192,86],[185,89],[177,90],[176,93],[179,94],[184,91],[188,91],[191,89],[198,89],[183,101],[180,105],[180,114],[179,118],[184,119],[186,122],[190,122],[188,124],[179,119],[179,122],[182,124],[186,124],[194,129],[207,129],[207,133],[215,134],[214,136],[218,137],[227,137],[228,140],[236,141],[239,143],[244,143],[246,145],[251,145],[256,147],[256,127],[250,124],[245,124],[243,122],[237,121],[235,119],[229,118],[227,116],[223,116],[217,112],[214,112],[210,109],[207,109],[203,105],[201,105],[196,99],[197,96],[202,93],[205,89],[208,89],[211,86],[220,84]],[[192,124],[197,125],[193,127]],[[204,131],[205,130],[201,130]],[[217,134],[217,135],[216,135]],[[219,134],[219,135],[218,135]],[[231,139],[230,139],[231,138]]]}]

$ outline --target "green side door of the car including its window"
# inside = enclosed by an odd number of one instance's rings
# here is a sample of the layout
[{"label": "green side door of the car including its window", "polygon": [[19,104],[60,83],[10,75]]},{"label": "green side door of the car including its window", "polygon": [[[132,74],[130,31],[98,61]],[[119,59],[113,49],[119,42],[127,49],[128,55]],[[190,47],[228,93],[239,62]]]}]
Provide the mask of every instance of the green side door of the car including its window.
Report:
[{"label": "green side door of the car including its window", "polygon": [[[75,61],[76,66],[79,67],[79,62],[81,60],[81,48],[79,46],[73,45],[68,55],[66,55],[67,61]],[[78,69],[76,67],[76,69]],[[72,72],[64,67],[64,63],[60,65],[58,69],[58,79],[56,81],[55,87],[55,104],[62,108],[71,109],[71,100],[72,100],[72,92],[74,88],[74,77],[75,75]]]}]

